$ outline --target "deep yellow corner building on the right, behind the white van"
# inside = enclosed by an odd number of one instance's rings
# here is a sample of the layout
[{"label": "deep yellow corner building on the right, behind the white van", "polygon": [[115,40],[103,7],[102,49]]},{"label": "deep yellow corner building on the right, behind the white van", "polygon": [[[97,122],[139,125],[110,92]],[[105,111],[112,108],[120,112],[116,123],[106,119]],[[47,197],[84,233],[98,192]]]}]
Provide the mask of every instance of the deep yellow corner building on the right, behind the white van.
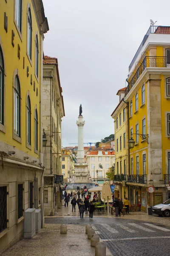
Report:
[{"label": "deep yellow corner building on the right, behind the white van", "polygon": [[170,27],[151,26],[146,35],[129,66],[124,99],[129,199],[145,212],[170,198]]}]

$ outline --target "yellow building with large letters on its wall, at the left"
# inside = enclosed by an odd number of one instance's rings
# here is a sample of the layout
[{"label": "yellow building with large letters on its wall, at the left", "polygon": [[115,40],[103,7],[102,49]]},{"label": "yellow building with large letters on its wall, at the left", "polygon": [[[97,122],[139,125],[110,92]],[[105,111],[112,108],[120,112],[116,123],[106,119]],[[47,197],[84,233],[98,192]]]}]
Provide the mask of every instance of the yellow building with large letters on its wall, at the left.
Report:
[{"label": "yellow building with large letters on its wall, at the left", "polygon": [[42,0],[0,1],[0,252],[23,238],[24,211],[42,209],[40,102],[47,31]]}]

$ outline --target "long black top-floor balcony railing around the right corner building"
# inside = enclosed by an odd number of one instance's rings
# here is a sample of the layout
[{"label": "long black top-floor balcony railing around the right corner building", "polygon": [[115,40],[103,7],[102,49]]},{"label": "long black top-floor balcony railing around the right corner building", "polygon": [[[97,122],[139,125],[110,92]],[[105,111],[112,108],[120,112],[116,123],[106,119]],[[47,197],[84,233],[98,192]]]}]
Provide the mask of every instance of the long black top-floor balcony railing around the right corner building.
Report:
[{"label": "long black top-floor balcony railing around the right corner building", "polygon": [[137,69],[136,73],[130,80],[128,86],[125,89],[125,96],[127,93],[130,92],[133,85],[136,83],[136,81],[139,79],[139,77],[142,75],[144,70],[147,67],[169,67],[170,68],[170,57],[152,57],[152,56],[146,56],[144,57],[142,63],[140,64],[139,68]]}]

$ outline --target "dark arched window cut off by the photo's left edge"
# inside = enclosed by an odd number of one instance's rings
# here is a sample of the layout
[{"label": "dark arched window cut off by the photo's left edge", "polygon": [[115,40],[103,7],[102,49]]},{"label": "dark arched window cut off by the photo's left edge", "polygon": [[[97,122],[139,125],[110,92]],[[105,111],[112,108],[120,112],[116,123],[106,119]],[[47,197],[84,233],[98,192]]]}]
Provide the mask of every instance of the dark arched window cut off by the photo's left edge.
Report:
[{"label": "dark arched window cut off by the photo's left edge", "polygon": [[0,123],[3,125],[3,91],[4,91],[4,62],[3,53],[0,47]]}]

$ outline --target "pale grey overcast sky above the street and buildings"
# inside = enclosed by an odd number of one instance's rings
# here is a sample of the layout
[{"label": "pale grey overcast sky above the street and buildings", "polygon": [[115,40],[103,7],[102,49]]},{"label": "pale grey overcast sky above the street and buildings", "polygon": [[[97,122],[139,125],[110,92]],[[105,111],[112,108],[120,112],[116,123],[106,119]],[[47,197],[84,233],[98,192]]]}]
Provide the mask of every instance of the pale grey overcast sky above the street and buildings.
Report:
[{"label": "pale grey overcast sky above the street and buildings", "polygon": [[[49,31],[44,54],[57,57],[65,117],[62,146],[77,143],[82,104],[84,142],[114,133],[111,113],[128,66],[149,26],[170,25],[169,0],[43,0]],[[71,145],[70,145],[71,146]]]}]

